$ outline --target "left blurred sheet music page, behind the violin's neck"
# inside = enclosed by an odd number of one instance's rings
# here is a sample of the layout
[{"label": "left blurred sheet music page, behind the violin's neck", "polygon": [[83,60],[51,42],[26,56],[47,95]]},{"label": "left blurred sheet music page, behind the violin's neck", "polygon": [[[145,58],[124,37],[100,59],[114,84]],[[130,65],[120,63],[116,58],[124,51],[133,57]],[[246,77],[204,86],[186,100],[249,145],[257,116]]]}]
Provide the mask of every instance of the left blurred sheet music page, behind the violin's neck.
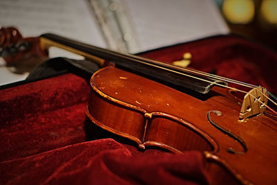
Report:
[{"label": "left blurred sheet music page, behind the violin's neck", "polygon": [[[106,42],[87,1],[75,0],[1,0],[0,26],[16,26],[24,37],[56,33],[80,42],[106,47]],[[80,58],[78,55],[51,48],[50,56]],[[0,85],[24,80],[23,75],[10,73],[0,60]]]}]

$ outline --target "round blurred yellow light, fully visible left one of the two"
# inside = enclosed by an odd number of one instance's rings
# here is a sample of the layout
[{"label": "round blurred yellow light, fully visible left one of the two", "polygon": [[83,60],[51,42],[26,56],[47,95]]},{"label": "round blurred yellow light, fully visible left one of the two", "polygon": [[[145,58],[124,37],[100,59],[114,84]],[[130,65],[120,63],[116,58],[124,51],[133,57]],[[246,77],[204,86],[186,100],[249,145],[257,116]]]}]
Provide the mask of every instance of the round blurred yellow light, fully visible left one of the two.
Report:
[{"label": "round blurred yellow light, fully visible left one of the two", "polygon": [[247,24],[254,17],[255,6],[253,0],[225,0],[222,12],[233,24]]}]

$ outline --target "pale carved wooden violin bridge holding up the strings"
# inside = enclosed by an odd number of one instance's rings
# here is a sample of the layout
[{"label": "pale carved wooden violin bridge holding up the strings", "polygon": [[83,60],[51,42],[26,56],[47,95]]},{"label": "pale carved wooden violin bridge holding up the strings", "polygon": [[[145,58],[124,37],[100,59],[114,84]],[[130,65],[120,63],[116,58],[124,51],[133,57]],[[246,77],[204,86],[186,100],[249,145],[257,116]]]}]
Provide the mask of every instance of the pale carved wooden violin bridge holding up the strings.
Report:
[{"label": "pale carved wooden violin bridge holding up the strings", "polygon": [[247,121],[253,116],[264,114],[267,105],[267,90],[263,87],[251,89],[245,96],[240,109],[239,122]]}]

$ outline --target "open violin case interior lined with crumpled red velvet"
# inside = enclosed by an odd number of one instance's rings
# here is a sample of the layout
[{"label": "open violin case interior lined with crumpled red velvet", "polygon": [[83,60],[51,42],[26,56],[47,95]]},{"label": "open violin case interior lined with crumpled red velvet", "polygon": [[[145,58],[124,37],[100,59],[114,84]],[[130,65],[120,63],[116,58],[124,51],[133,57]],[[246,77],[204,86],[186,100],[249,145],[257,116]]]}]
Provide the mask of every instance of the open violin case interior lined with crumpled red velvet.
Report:
[{"label": "open violin case interior lined with crumpled red velvet", "polygon": [[[235,35],[140,55],[173,62],[186,52],[193,55],[194,69],[277,92],[277,54]],[[76,71],[1,89],[0,184],[238,183],[224,168],[208,170],[202,152],[141,150],[136,143],[93,125],[85,114],[89,78]]]}]

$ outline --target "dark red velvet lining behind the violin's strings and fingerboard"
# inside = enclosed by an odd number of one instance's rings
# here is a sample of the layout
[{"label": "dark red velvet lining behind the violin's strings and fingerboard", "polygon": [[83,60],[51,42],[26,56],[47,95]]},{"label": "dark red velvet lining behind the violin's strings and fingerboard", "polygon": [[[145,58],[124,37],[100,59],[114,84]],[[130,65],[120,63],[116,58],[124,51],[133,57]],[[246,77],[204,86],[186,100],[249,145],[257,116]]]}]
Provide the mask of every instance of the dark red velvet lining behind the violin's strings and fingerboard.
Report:
[{"label": "dark red velvet lining behind the violin's strings and fingerboard", "polygon": [[[172,62],[185,52],[193,55],[190,67],[233,80],[266,87],[277,94],[277,55],[264,46],[236,36],[220,36],[145,53],[144,56]],[[231,85],[231,84],[230,84]],[[238,85],[233,87],[242,88]]]}]

